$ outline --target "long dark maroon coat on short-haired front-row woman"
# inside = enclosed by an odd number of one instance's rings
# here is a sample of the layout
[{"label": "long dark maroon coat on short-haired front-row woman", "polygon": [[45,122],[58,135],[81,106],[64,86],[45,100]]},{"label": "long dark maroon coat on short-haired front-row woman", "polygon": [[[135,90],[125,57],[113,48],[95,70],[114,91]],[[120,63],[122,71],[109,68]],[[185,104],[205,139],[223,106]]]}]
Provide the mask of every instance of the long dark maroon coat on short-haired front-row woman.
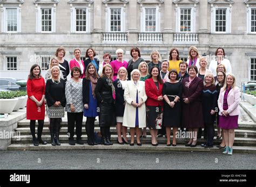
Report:
[{"label": "long dark maroon coat on short-haired front-row woman", "polygon": [[195,77],[190,83],[189,87],[186,87],[189,82],[189,77],[184,78],[182,100],[188,98],[188,104],[183,102],[182,112],[182,126],[186,128],[199,128],[204,127],[203,109],[202,109],[202,91],[204,89],[203,80],[199,77]]}]

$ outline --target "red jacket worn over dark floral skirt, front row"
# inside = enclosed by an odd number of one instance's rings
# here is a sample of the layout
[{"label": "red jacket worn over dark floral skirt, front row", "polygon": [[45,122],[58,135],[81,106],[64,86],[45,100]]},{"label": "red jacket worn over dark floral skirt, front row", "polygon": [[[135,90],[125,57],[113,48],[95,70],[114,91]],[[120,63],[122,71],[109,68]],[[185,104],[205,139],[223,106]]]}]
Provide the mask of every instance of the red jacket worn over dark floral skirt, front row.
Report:
[{"label": "red jacket worn over dark floral skirt, front row", "polygon": [[162,95],[163,85],[158,82],[158,90],[156,84],[154,84],[153,78],[149,78],[145,81],[145,91],[147,95],[146,105],[147,106],[164,106],[163,100],[157,100]]}]

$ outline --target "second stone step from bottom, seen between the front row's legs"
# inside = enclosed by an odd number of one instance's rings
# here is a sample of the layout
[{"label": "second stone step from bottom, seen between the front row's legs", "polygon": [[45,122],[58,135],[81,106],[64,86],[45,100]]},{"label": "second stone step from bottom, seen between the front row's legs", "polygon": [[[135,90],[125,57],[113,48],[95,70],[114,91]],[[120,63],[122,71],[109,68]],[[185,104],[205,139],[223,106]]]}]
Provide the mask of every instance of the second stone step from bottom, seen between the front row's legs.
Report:
[{"label": "second stone step from bottom, seen between the front row's legs", "polygon": [[[76,135],[74,135],[74,137],[76,137]],[[42,135],[42,139],[50,142],[51,136],[50,135]],[[62,134],[59,135],[60,142],[68,143],[68,140],[69,140],[68,135],[62,135]],[[87,140],[86,134],[82,135],[82,140],[84,140],[84,141]],[[141,138],[140,140],[142,141],[142,143],[151,143],[151,136],[147,135],[146,138]],[[171,140],[172,140],[172,136],[171,136]],[[111,135],[111,141],[113,143],[117,143],[117,135],[116,134]],[[14,136],[12,138],[12,143],[30,143],[30,142],[32,142],[31,135],[20,135],[20,136]],[[165,137],[158,138],[158,142],[166,144],[166,138]],[[186,139],[177,139],[177,143],[179,143],[181,145],[185,145],[186,142],[187,142]],[[206,142],[205,139],[198,139],[198,145],[200,145],[201,143],[205,143],[205,142]],[[217,140],[216,137],[214,137],[213,142],[215,145],[219,145],[221,140]],[[256,138],[235,137],[234,146],[256,146]]]}]

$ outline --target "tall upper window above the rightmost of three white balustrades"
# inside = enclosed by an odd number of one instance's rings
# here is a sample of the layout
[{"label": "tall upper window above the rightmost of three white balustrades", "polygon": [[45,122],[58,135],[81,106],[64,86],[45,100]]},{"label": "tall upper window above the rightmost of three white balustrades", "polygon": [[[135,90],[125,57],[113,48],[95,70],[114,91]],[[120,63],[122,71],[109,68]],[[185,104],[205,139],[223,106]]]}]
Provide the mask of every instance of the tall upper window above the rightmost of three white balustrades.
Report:
[{"label": "tall upper window above the rightmost of three white balustrades", "polygon": [[180,32],[191,32],[191,9],[180,9]]}]

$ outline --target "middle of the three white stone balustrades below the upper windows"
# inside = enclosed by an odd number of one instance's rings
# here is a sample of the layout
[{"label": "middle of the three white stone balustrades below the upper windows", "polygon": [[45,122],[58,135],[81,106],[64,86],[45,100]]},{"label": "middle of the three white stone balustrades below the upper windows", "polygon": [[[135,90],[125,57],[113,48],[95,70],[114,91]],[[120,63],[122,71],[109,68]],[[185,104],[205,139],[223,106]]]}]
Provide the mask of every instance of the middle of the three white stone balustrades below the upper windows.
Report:
[{"label": "middle of the three white stone balustrades below the upper windows", "polygon": [[163,42],[163,33],[154,32],[147,33],[141,32],[138,33],[138,42],[152,42],[152,43],[162,43]]}]

